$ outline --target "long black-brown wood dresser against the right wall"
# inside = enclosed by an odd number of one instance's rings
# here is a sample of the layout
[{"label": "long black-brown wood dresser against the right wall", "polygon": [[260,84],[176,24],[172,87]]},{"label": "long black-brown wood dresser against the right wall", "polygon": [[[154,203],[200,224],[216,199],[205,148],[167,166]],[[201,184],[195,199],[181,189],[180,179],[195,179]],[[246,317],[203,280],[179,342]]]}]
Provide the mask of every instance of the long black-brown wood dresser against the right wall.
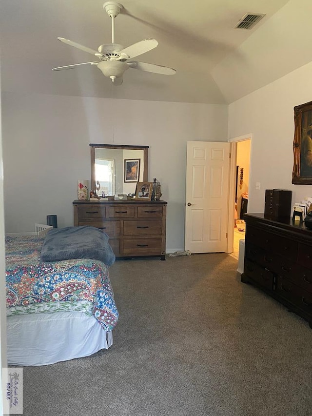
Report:
[{"label": "long black-brown wood dresser against the right wall", "polygon": [[245,214],[245,261],[241,281],[252,283],[306,319],[312,328],[312,231]]}]

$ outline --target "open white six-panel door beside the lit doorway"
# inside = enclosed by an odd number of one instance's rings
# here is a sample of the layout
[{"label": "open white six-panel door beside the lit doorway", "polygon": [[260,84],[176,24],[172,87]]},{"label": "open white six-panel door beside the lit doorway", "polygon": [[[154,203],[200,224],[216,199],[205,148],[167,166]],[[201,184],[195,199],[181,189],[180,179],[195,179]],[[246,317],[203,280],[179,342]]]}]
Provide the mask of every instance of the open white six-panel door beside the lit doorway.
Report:
[{"label": "open white six-panel door beside the lit doorway", "polygon": [[227,251],[230,143],[188,141],[185,250]]}]

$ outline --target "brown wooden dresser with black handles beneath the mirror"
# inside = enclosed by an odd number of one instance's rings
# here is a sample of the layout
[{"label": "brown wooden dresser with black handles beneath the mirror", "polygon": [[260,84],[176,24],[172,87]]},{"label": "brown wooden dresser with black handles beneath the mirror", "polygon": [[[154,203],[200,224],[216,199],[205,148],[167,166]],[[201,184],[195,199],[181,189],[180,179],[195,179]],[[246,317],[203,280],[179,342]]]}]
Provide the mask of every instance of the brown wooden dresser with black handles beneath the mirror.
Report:
[{"label": "brown wooden dresser with black handles beneath the mirror", "polygon": [[116,257],[160,256],[166,253],[167,202],[75,200],[74,225],[105,231]]}]

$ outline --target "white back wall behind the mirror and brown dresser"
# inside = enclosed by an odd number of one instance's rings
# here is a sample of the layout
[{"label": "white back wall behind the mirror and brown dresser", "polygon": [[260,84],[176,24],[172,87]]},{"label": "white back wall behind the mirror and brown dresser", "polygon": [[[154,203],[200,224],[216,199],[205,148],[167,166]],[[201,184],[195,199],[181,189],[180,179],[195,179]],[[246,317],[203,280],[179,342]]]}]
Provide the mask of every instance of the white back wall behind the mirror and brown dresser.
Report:
[{"label": "white back wall behind the mirror and brown dresser", "polygon": [[187,140],[226,141],[228,107],[2,93],[6,232],[57,215],[73,225],[77,179],[89,179],[89,143],[147,145],[149,180],[168,201],[167,250],[184,247]]}]

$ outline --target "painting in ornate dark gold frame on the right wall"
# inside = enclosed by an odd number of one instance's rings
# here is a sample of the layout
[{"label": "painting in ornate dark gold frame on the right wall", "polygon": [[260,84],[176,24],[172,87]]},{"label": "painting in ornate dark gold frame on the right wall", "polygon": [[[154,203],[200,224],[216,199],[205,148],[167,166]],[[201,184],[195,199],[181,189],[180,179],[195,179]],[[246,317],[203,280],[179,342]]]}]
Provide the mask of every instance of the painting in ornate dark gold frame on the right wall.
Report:
[{"label": "painting in ornate dark gold frame on the right wall", "polygon": [[312,101],[294,107],[292,183],[312,185]]}]

